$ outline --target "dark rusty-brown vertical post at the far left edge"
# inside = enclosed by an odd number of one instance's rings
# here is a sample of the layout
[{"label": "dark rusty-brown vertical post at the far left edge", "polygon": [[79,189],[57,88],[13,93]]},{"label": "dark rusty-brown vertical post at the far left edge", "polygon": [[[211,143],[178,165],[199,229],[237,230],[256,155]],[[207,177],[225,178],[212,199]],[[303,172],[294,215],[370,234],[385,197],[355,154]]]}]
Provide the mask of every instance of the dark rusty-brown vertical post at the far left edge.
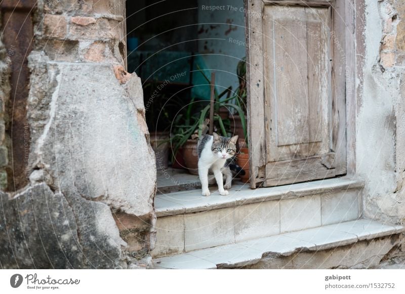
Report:
[{"label": "dark rusty-brown vertical post at the far left edge", "polygon": [[[8,190],[16,191],[29,183],[30,169],[27,154],[30,148],[30,128],[27,120],[29,69],[27,57],[32,50],[32,1],[23,1],[15,9],[2,3],[3,41],[10,58],[10,101],[6,106],[10,124],[8,134],[11,138],[11,162],[7,168]],[[9,3],[10,4],[10,3]],[[10,4],[11,5],[11,4]]]}]

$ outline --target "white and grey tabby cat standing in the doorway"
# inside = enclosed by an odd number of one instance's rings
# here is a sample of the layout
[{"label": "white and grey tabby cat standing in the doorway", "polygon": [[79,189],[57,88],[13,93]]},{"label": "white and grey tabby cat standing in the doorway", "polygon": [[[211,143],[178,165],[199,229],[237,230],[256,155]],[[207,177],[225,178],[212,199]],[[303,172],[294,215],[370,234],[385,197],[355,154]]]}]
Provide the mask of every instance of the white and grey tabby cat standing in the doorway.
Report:
[{"label": "white and grey tabby cat standing in the doorway", "polygon": [[[202,194],[209,196],[208,172],[214,173],[217,181],[218,190],[221,195],[228,195],[225,189],[232,186],[232,170],[243,174],[244,171],[237,165],[233,164],[234,155],[236,154],[236,142],[238,136],[231,138],[222,137],[217,133],[201,136],[197,143],[198,153],[198,176],[201,181]],[[222,174],[225,175],[225,185]]]}]

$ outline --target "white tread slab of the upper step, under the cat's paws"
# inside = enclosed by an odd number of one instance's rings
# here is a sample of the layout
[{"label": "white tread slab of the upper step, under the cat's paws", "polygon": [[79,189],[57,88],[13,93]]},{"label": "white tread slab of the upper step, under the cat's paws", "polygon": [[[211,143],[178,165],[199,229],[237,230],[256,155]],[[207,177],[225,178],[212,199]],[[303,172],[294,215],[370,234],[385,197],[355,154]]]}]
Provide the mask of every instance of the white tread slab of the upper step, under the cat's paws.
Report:
[{"label": "white tread slab of the upper step, under the cat's paws", "polygon": [[156,195],[154,207],[157,217],[201,212],[280,199],[297,199],[316,194],[336,193],[362,188],[364,181],[346,177],[332,178],[285,186],[250,189],[248,184],[235,185],[229,195],[222,196],[211,187],[211,196],[204,197],[200,189]]}]

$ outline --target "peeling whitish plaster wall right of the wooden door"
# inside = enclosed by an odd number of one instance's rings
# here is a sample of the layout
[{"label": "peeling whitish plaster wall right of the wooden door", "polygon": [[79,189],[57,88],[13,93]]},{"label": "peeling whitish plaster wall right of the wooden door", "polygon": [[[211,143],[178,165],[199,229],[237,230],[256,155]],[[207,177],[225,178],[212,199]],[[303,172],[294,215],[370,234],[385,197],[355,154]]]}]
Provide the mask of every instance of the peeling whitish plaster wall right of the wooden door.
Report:
[{"label": "peeling whitish plaster wall right of the wooden door", "polygon": [[405,224],[405,3],[356,3],[361,74],[357,79],[356,172],[366,179],[363,215]]}]

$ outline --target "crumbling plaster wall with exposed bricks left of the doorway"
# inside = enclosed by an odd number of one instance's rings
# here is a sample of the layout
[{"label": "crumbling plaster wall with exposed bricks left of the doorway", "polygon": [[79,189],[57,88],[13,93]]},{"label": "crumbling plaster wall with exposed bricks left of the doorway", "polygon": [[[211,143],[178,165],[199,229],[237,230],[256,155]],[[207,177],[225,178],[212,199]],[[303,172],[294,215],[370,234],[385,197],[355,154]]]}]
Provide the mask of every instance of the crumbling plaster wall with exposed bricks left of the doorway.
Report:
[{"label": "crumbling plaster wall with exposed bricks left of the doorway", "polygon": [[[39,0],[27,185],[1,195],[3,268],[148,268],[156,186],[115,0]],[[122,50],[121,50],[122,51]]]}]

